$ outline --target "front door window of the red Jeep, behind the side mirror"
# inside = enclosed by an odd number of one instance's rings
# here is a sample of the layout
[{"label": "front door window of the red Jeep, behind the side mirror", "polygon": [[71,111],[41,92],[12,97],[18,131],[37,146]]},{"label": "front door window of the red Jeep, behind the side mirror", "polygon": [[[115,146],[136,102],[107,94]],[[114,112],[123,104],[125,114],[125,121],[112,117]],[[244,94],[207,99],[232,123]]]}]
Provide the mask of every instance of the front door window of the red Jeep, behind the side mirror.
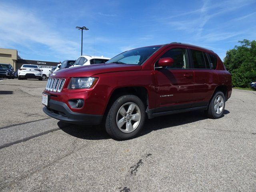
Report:
[{"label": "front door window of the red Jeep, behind the side mirror", "polygon": [[170,57],[174,60],[173,66],[169,66],[168,69],[187,69],[188,57],[186,49],[174,48],[164,53],[161,58]]}]

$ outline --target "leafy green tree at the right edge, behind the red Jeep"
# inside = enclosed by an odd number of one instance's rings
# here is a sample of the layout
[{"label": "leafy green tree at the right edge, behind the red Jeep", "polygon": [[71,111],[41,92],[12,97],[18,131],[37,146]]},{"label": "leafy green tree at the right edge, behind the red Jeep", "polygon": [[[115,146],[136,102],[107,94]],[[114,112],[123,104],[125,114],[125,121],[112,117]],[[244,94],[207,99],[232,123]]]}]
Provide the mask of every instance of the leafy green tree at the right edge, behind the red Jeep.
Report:
[{"label": "leafy green tree at the right edge, behind the red Jeep", "polygon": [[256,41],[244,39],[238,43],[240,46],[227,51],[224,65],[232,74],[233,86],[248,88],[256,80]]}]

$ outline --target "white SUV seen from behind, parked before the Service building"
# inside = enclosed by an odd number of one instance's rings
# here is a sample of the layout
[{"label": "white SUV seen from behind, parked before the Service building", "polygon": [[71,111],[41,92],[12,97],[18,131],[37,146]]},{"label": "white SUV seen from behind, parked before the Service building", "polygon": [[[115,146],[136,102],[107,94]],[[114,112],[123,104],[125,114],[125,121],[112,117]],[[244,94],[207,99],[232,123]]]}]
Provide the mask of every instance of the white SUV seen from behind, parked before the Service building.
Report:
[{"label": "white SUV seen from behind, parked before the Service building", "polygon": [[42,70],[37,65],[24,64],[18,70],[18,80],[23,79],[38,79],[42,81]]}]

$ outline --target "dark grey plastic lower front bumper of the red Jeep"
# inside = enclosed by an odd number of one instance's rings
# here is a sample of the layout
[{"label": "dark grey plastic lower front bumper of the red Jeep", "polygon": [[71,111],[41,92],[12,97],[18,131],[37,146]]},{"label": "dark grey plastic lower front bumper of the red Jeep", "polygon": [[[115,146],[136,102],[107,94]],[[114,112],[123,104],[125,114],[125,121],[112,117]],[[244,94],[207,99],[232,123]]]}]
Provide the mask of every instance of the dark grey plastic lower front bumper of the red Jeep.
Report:
[{"label": "dark grey plastic lower front bumper of the red Jeep", "polygon": [[98,125],[102,115],[82,114],[72,112],[64,102],[50,99],[43,111],[50,117],[73,124]]}]

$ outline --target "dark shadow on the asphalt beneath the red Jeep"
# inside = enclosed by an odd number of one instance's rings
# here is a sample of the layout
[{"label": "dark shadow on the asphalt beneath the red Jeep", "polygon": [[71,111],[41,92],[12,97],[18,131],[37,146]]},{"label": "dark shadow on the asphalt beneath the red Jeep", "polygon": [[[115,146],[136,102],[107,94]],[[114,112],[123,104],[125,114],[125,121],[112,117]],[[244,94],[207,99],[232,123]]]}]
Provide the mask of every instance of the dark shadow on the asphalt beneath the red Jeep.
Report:
[{"label": "dark shadow on the asphalt beneath the red Jeep", "polygon": [[[229,114],[228,110],[224,110],[222,115],[225,116]],[[165,128],[173,128],[180,125],[189,124],[192,122],[197,122],[200,120],[207,119],[204,111],[196,111],[196,112],[185,112],[179,114],[172,114],[167,116],[156,117],[153,119],[147,119],[144,124],[143,130],[137,137],[146,135],[152,131],[165,129]],[[86,139],[86,140],[102,140],[109,139],[110,136],[106,133],[106,131],[102,128],[102,126],[86,126],[86,125],[76,125],[70,124],[66,122],[58,122],[59,128],[70,134],[71,136]]]}]

